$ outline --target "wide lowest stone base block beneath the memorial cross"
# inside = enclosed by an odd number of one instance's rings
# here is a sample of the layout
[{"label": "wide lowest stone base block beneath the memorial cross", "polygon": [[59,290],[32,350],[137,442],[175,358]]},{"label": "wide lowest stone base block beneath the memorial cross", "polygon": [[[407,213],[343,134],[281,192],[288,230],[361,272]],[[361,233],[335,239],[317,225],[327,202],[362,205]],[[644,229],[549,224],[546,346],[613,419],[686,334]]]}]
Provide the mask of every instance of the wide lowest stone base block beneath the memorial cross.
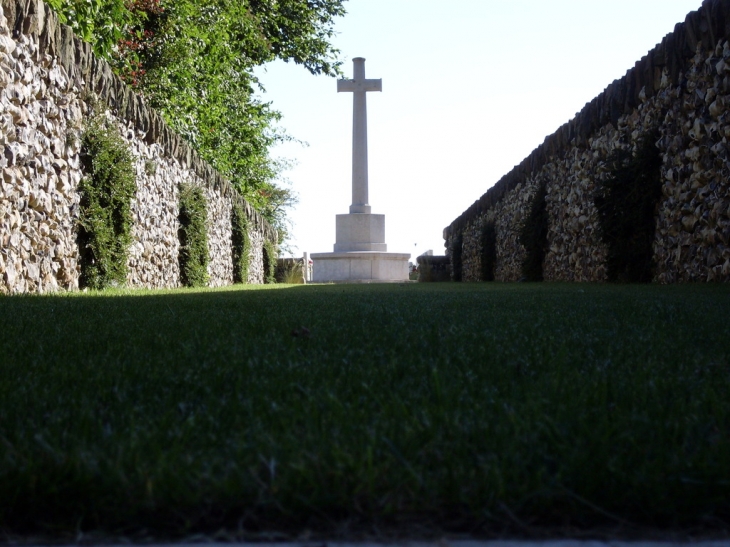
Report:
[{"label": "wide lowest stone base block beneath the memorial cross", "polygon": [[407,253],[312,253],[315,283],[394,283],[408,281]]}]

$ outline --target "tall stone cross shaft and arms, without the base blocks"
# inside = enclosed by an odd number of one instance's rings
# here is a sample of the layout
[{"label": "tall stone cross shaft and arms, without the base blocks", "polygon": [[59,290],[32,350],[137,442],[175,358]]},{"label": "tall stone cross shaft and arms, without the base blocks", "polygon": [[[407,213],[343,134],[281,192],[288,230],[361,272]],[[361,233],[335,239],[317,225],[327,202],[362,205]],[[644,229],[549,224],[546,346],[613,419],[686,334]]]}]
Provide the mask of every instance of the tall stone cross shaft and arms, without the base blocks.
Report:
[{"label": "tall stone cross shaft and arms, without the base blocks", "polygon": [[368,204],[368,112],[365,93],[383,91],[383,80],[365,79],[365,59],[352,60],[352,80],[337,80],[337,92],[352,93],[352,205],[350,213],[370,213]]}]

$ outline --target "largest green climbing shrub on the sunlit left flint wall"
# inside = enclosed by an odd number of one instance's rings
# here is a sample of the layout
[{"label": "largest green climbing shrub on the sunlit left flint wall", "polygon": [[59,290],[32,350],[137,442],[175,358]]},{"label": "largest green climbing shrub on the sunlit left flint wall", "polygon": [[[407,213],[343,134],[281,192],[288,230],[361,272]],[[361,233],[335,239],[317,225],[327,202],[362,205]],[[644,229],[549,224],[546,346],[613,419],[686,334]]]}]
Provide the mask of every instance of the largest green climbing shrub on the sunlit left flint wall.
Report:
[{"label": "largest green climbing shrub on the sunlit left flint wall", "polygon": [[81,137],[81,163],[80,284],[93,289],[123,285],[132,242],[131,201],[137,189],[132,155],[116,129],[95,117]]}]

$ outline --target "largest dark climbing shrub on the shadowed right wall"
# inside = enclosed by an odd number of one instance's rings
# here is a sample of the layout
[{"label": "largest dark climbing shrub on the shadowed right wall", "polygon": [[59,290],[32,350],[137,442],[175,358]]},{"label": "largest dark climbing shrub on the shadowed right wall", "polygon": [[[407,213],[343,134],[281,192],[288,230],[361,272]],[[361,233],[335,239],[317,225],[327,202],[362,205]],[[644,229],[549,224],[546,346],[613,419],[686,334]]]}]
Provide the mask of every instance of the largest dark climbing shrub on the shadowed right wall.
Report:
[{"label": "largest dark climbing shrub on the shadowed right wall", "polygon": [[655,214],[662,193],[662,157],[656,131],[640,137],[636,152],[616,150],[609,177],[594,198],[601,240],[608,247],[609,281],[648,283],[652,279]]}]

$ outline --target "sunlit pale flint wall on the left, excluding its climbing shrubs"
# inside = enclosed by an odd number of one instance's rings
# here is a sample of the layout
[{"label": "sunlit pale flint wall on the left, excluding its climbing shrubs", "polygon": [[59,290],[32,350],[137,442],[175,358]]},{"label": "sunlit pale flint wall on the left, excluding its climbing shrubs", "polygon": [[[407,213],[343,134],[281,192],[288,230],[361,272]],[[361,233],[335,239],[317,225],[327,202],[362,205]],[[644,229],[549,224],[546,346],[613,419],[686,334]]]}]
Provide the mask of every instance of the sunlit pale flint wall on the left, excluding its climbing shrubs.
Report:
[{"label": "sunlit pale flint wall on the left, excluding its climbing shrubs", "polygon": [[203,188],[208,203],[210,285],[233,283],[231,211],[249,219],[250,283],[263,283],[263,244],[275,230],[109,65],[96,59],[38,0],[1,0],[0,292],[76,289],[80,139],[91,97],[101,101],[135,158],[128,284],[180,285],[178,195]]}]

